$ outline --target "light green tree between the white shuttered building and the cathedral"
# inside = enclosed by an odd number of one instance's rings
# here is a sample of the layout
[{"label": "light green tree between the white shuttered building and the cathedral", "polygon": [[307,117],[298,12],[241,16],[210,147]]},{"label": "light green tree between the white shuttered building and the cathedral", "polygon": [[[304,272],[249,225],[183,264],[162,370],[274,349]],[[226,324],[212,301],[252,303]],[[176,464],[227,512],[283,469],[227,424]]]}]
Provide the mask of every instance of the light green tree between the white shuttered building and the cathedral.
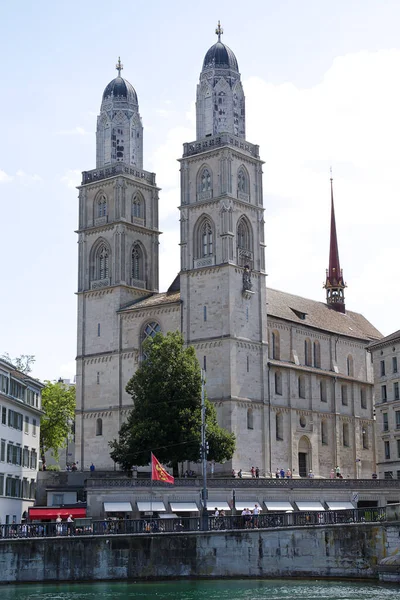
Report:
[{"label": "light green tree between the white shuttered building and the cathedral", "polygon": [[42,390],[43,417],[40,420],[40,453],[42,460],[52,450],[56,460],[58,451],[65,448],[75,416],[75,386],[62,381],[46,381]]}]

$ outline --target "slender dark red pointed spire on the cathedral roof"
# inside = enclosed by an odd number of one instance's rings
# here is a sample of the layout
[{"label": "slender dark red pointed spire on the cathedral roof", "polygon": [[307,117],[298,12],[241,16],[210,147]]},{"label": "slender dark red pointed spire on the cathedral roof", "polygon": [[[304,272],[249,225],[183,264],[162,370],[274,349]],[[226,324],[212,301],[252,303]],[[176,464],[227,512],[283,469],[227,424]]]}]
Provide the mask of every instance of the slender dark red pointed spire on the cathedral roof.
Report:
[{"label": "slender dark red pointed spire on the cathedral roof", "polygon": [[[331,169],[332,175],[332,169]],[[326,271],[326,303],[338,312],[346,312],[344,303],[343,271],[340,268],[339,247],[336,234],[335,206],[333,202],[333,179],[331,176],[331,238],[329,245],[329,268]]]}]

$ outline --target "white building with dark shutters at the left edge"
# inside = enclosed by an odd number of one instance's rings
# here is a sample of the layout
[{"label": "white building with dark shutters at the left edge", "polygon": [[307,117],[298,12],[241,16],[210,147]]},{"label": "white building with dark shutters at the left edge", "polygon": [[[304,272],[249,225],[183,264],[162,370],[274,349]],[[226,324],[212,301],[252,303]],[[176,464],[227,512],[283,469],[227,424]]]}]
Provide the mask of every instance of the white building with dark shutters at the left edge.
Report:
[{"label": "white building with dark shutters at the left edge", "polygon": [[0,520],[21,522],[35,499],[43,384],[0,359]]}]

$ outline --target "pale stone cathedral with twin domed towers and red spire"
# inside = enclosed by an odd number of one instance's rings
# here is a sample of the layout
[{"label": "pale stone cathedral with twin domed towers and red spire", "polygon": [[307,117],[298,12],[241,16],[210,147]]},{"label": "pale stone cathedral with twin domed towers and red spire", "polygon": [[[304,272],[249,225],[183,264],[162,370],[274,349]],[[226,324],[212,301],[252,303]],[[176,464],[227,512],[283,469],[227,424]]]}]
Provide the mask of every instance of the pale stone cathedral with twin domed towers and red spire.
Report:
[{"label": "pale stone cathedral with twin domed towers and red spire", "polygon": [[[375,471],[373,371],[381,337],[346,310],[331,181],[325,302],[266,287],[263,162],[246,139],[238,61],[222,40],[206,52],[196,140],[180,158],[180,270],[159,292],[159,188],[143,168],[134,87],[103,92],[96,168],[79,186],[76,460],[114,469],[108,442],[132,408],[125,386],[156,332],[180,331],[206,372],[236,452],[216,472],[370,477]],[[161,182],[162,183],[162,182]],[[271,249],[273,251],[273,249]]]}]

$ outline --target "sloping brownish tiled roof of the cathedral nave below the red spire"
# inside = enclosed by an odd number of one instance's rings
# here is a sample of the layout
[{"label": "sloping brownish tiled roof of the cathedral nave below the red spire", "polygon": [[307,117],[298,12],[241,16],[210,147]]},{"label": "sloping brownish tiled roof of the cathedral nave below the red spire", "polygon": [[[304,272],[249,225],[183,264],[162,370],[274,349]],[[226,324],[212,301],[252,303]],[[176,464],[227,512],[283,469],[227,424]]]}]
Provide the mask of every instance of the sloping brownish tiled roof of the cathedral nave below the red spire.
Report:
[{"label": "sloping brownish tiled roof of the cathedral nave below the red spire", "polygon": [[267,314],[299,325],[362,340],[377,340],[382,334],[363,315],[350,310],[340,313],[325,304],[267,288]]}]

